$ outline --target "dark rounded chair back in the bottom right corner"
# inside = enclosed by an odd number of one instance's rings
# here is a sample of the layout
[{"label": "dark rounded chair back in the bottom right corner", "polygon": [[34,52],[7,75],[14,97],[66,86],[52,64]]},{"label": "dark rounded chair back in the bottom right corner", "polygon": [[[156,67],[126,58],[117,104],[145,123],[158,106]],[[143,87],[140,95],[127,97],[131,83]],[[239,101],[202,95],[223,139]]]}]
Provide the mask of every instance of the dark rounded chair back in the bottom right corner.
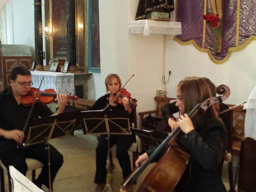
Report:
[{"label": "dark rounded chair back in the bottom right corner", "polygon": [[238,192],[256,190],[256,140],[245,138],[240,152]]}]

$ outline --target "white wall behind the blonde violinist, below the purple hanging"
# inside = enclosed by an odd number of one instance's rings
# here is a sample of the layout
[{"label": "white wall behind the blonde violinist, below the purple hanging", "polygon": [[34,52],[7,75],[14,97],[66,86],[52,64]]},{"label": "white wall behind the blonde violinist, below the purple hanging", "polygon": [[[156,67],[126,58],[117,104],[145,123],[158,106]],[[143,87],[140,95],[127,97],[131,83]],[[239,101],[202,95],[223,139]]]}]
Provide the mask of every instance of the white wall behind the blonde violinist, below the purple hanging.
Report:
[{"label": "white wall behind the blonde violinist, below the purple hanging", "polygon": [[[135,18],[138,0],[100,0],[99,6],[102,73],[100,85],[95,85],[95,89],[103,88],[104,78],[109,73],[120,74],[123,82],[135,74],[126,88],[132,97],[138,99],[137,112],[154,109],[156,90],[164,88],[164,36],[151,34],[145,37],[129,33],[128,22]],[[176,97],[176,86],[182,78],[205,76],[216,85],[226,84],[230,87],[231,95],[226,103],[238,104],[247,100],[256,86],[256,61],[253,54],[256,41],[252,41],[242,51],[232,52],[224,64],[214,64],[207,53],[199,52],[192,45],[182,46],[173,37],[166,36],[166,80],[168,71],[172,71],[166,84],[167,96]],[[96,98],[99,96],[96,95]]]}]

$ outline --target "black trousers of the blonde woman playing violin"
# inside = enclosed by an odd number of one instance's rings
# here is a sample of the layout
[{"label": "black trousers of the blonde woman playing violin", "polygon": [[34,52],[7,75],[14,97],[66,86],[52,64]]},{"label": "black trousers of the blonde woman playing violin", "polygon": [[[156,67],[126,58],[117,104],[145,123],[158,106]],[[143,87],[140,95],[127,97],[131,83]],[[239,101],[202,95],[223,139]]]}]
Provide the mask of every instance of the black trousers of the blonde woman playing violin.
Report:
[{"label": "black trousers of the blonde woman playing violin", "polygon": [[[100,135],[98,146],[96,148],[96,174],[94,183],[106,182],[106,160],[108,155],[107,135]],[[110,147],[116,144],[116,158],[122,168],[123,178],[126,178],[131,172],[131,162],[128,155],[128,149],[134,142],[131,135],[110,135]]]}]

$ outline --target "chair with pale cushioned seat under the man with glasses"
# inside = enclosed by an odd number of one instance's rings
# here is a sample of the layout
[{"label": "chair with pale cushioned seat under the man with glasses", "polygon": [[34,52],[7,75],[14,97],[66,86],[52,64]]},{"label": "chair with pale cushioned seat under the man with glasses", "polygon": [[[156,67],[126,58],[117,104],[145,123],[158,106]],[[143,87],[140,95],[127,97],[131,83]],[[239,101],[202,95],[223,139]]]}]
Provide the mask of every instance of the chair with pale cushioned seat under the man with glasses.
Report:
[{"label": "chair with pale cushioned seat under the man with glasses", "polygon": [[[26,163],[28,165],[28,171],[32,171],[32,182],[34,183],[36,181],[36,169],[42,168],[43,164],[36,160],[31,158],[26,158]],[[2,164],[0,160],[0,182],[1,182],[1,192],[4,192],[4,172],[8,174],[7,168]],[[9,191],[12,191],[12,184],[10,181],[10,175],[8,174],[8,181],[9,181]]]}]

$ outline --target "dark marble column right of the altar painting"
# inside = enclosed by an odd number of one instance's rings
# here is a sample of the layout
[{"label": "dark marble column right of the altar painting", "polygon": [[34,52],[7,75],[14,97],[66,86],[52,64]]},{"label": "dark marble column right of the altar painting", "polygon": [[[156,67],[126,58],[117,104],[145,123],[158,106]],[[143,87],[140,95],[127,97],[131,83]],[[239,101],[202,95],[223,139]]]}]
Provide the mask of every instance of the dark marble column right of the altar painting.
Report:
[{"label": "dark marble column right of the altar painting", "polygon": [[76,68],[76,0],[66,0],[67,8],[67,60]]}]

